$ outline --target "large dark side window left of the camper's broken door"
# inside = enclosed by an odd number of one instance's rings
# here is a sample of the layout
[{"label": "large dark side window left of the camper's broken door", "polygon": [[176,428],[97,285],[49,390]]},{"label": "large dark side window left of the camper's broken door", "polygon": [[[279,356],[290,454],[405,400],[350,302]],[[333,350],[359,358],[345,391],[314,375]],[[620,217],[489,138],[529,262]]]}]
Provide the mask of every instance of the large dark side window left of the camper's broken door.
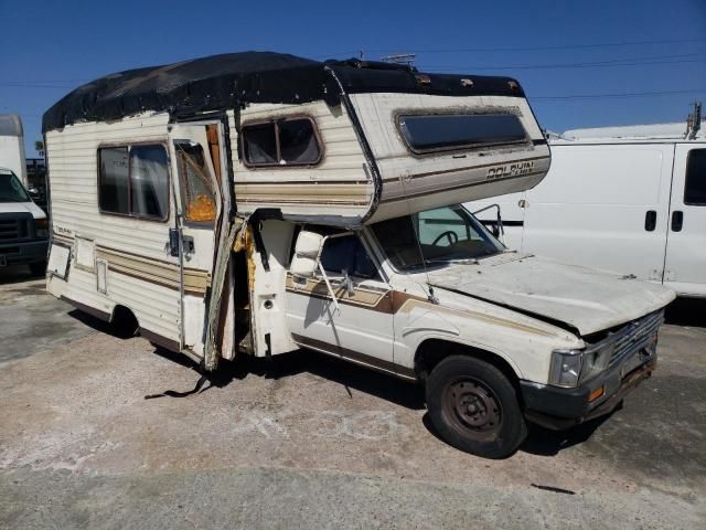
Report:
[{"label": "large dark side window left of the camper's broken door", "polygon": [[165,220],[169,172],[162,145],[98,149],[100,211],[141,219]]}]

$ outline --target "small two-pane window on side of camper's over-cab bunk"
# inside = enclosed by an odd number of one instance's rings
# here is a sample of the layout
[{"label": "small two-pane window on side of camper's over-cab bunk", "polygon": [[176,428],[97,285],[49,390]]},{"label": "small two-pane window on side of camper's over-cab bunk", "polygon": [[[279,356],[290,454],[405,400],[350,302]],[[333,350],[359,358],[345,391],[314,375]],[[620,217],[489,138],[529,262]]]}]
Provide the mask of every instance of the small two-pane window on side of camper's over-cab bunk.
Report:
[{"label": "small two-pane window on side of camper's over-cab bunk", "polygon": [[314,124],[309,118],[245,125],[242,136],[246,166],[310,166],[321,159]]}]

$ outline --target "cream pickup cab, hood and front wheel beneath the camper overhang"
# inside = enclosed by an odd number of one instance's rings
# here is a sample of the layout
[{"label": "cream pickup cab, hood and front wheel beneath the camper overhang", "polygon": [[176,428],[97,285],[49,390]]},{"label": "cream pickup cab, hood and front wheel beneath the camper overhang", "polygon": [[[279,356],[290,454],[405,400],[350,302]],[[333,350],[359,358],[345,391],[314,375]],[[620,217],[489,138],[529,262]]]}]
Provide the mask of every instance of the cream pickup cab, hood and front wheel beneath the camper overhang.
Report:
[{"label": "cream pickup cab, hood and front wheel beneath the camper overhang", "polygon": [[[295,340],[422,381],[435,427],[460,449],[503,457],[526,421],[560,430],[607,414],[655,367],[672,290],[507,251],[461,205],[314,233],[328,234],[320,265],[307,269],[303,231],[290,267]],[[324,283],[338,309],[313,298]]]}]

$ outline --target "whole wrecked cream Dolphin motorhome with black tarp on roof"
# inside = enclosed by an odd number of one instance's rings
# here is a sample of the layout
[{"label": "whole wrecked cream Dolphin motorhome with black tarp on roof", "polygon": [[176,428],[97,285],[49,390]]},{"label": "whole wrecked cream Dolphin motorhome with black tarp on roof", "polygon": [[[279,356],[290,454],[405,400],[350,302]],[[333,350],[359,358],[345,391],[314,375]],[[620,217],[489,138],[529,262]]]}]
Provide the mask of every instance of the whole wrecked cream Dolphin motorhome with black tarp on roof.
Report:
[{"label": "whole wrecked cream Dolphin motorhome with black tarp on roof", "polygon": [[548,170],[515,80],[225,54],[96,80],[43,128],[49,292],[205,370],[311,348],[424,384],[496,458],[655,367],[672,290],[509,252],[458,205]]}]

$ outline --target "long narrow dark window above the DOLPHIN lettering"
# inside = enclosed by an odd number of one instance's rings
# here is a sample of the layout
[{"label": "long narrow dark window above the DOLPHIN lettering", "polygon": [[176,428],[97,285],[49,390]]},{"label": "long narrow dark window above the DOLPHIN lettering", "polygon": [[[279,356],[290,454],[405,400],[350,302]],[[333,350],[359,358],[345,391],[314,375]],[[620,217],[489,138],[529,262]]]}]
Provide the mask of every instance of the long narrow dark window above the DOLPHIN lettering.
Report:
[{"label": "long narrow dark window above the DOLPHIN lettering", "polygon": [[514,114],[403,115],[397,123],[409,149],[418,153],[513,144],[527,138]]}]

